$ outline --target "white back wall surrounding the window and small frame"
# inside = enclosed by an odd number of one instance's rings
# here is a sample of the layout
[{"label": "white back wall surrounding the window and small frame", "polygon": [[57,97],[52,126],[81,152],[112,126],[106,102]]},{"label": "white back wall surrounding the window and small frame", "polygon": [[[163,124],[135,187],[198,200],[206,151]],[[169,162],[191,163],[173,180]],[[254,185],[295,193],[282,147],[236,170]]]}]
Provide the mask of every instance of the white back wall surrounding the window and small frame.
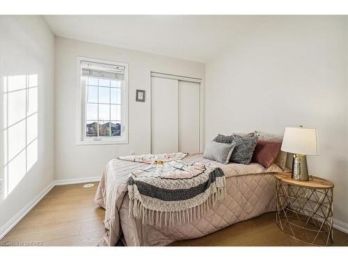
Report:
[{"label": "white back wall surrounding the window and small frame", "polygon": [[[129,144],[75,145],[77,56],[129,64]],[[150,72],[204,79],[203,63],[167,56],[56,38],[55,127],[57,180],[100,176],[113,157],[150,153]],[[145,102],[136,102],[136,89],[145,90]]]}]

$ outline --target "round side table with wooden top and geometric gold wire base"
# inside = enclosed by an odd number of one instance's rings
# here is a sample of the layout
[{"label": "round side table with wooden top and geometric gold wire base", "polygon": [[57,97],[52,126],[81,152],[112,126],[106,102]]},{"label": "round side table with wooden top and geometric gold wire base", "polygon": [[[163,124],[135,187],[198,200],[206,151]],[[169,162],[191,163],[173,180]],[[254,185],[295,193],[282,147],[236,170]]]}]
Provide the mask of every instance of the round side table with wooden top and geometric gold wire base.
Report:
[{"label": "round side table with wooden top and geometric gold wire base", "polygon": [[333,243],[333,183],[320,177],[293,180],[276,174],[276,223],[290,237],[313,246]]}]

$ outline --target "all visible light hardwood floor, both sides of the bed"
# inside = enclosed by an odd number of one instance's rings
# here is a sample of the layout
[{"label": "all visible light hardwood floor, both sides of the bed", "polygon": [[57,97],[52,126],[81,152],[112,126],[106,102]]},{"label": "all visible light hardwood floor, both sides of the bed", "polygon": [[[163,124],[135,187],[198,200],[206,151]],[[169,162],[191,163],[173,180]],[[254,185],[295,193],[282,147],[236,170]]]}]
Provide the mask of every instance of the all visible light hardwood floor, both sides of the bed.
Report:
[{"label": "all visible light hardwood floor, both sides of the bed", "polygon": [[[47,193],[0,245],[33,242],[43,246],[95,246],[104,234],[104,209],[94,203],[97,183],[57,186]],[[348,235],[334,230],[334,246],[348,246]],[[171,246],[307,246],[283,234],[275,213],[234,224],[211,235]]]}]

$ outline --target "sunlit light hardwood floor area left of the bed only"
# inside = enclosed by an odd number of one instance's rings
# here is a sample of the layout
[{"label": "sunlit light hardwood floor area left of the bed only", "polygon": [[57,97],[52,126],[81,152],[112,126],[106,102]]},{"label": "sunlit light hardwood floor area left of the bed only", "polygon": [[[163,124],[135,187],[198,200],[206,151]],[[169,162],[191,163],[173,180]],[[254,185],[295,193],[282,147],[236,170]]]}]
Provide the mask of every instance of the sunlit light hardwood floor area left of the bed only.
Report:
[{"label": "sunlit light hardwood floor area left of the bed only", "polygon": [[95,246],[104,234],[104,209],[94,203],[94,184],[86,189],[83,184],[54,187],[1,242]]}]

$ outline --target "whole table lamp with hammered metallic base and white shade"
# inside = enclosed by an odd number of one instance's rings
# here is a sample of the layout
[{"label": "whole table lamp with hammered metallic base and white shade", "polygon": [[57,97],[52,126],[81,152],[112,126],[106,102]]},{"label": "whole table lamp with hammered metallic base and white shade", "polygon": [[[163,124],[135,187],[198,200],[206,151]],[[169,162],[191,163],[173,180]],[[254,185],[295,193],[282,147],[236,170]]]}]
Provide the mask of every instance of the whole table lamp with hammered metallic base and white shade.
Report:
[{"label": "whole table lamp with hammered metallic base and white shade", "polygon": [[317,129],[286,127],[281,150],[294,153],[291,177],[309,180],[306,155],[318,155]]}]

